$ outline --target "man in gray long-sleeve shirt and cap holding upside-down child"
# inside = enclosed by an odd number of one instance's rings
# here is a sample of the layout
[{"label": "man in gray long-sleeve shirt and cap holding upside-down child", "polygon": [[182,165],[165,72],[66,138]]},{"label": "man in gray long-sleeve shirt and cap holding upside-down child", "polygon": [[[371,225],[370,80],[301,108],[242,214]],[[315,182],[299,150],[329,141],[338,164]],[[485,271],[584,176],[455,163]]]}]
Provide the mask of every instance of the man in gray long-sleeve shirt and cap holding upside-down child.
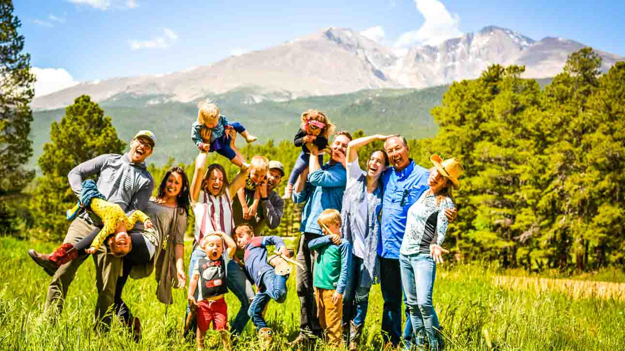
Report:
[{"label": "man in gray long-sleeve shirt and cap holding upside-down child", "polygon": [[[152,132],[140,131],[130,142],[130,151],[126,154],[105,154],[79,164],[68,174],[74,194],[79,196],[83,181],[99,174],[98,190],[109,202],[119,204],[126,213],[136,209],[144,210],[154,189],[154,180],[144,161],[152,154],[155,141]],[[102,222],[97,215],[85,212],[69,225],[63,242],[76,244],[101,225]],[[56,271],[47,289],[46,310],[54,309],[58,313],[63,310],[69,284],[74,280],[76,270],[85,259],[86,256],[80,256],[61,265]],[[93,254],[93,259],[96,264],[98,289],[96,320],[102,318],[108,325],[111,318],[104,314],[113,305],[115,285],[121,271],[121,258],[107,255],[103,245]]]}]

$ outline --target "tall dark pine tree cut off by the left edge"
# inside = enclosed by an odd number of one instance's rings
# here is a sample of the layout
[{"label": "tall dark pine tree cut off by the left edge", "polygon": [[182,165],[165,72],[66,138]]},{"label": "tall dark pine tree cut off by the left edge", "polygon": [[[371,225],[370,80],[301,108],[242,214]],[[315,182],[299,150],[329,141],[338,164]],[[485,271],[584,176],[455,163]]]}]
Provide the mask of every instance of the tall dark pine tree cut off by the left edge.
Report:
[{"label": "tall dark pine tree cut off by the left edge", "polygon": [[0,1],[0,196],[19,192],[34,177],[24,169],[32,156],[32,111],[35,77],[30,72],[31,56],[22,53],[21,22],[13,16],[10,0]]}]

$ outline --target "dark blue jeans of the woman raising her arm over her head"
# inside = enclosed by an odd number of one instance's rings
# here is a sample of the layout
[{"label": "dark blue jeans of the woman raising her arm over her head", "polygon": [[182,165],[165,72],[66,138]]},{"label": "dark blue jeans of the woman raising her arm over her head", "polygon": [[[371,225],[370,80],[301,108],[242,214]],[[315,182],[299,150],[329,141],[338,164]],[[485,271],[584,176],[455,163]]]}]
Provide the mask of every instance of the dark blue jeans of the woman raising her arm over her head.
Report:
[{"label": "dark blue jeans of the woman raising her arm over her head", "polygon": [[367,307],[369,307],[369,291],[371,287],[361,287],[360,278],[364,265],[362,259],[352,255],[351,272],[347,274],[347,287],[343,294],[343,325],[349,325],[354,321],[355,325],[364,324],[367,317]]}]

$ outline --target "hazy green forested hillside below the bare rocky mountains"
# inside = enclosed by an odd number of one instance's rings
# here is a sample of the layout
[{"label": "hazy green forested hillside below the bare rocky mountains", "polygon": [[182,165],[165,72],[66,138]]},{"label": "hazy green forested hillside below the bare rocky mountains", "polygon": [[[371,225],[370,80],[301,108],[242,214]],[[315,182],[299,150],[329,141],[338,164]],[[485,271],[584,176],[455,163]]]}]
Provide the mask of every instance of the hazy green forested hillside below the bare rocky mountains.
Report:
[{"label": "hazy green forested hillside below the bare rocky mountains", "polygon": [[[258,143],[269,139],[291,139],[299,127],[302,111],[317,108],[326,112],[338,129],[365,133],[401,132],[409,139],[431,137],[436,134],[436,124],[429,113],[441,103],[447,86],[427,89],[376,89],[316,96],[291,101],[249,101],[252,88],[237,89],[226,94],[212,95],[230,121],[240,121],[251,134],[259,137]],[[154,104],[160,99],[159,104]],[[100,103],[121,139],[128,141],[139,129],[151,129],[158,138],[158,146],[150,161],[163,164],[169,157],[177,161],[192,162],[197,151],[191,141],[191,124],[197,118],[195,102],[165,101],[163,96],[133,96],[119,94]],[[31,166],[42,154],[43,144],[49,141],[50,124],[64,116],[64,109],[35,111],[31,139],[34,157]]]}]

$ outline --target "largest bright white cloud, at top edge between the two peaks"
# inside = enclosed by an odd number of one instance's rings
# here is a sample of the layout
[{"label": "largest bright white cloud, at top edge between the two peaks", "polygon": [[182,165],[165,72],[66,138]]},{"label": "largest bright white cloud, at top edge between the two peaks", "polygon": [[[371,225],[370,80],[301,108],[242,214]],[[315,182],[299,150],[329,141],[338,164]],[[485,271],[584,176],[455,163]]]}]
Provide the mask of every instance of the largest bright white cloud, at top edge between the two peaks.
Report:
[{"label": "largest bright white cloud, at top edge between the two peaks", "polygon": [[395,42],[395,46],[436,46],[447,39],[462,36],[458,28],[460,17],[457,14],[450,14],[441,1],[414,0],[414,2],[425,21],[417,31],[402,34]]}]

